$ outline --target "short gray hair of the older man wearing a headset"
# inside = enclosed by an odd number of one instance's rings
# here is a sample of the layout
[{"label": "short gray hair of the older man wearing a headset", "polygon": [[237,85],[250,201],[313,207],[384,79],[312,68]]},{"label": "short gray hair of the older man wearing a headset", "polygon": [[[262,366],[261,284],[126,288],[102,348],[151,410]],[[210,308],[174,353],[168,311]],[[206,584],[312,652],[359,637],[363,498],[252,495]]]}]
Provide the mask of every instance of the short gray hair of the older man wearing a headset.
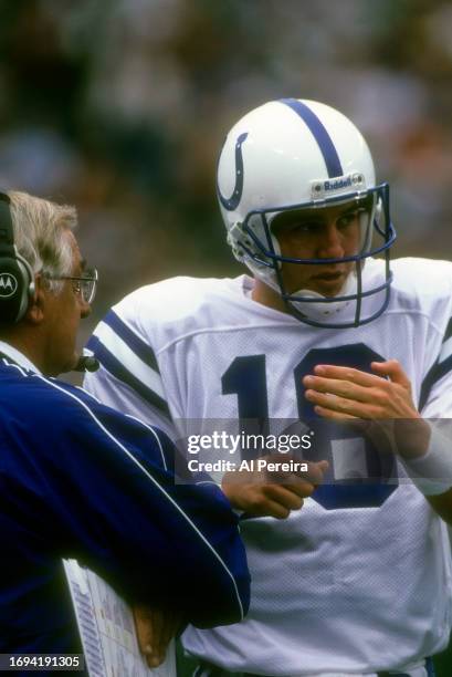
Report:
[{"label": "short gray hair of the older man wearing a headset", "polygon": [[[73,249],[64,237],[77,225],[77,212],[70,205],[57,205],[27,192],[8,191],[14,244],[34,274],[70,275]],[[63,282],[49,280],[49,288],[59,293]]]}]

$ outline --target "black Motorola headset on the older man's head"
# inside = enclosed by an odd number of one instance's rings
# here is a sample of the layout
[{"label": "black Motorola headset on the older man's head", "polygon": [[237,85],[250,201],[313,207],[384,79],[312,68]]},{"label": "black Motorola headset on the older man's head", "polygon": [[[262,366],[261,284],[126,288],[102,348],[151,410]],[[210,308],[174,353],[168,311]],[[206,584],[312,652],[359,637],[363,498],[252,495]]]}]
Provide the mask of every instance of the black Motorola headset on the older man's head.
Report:
[{"label": "black Motorola headset on the older man's head", "polygon": [[33,271],[14,244],[11,200],[0,191],[0,323],[19,322],[33,294]]}]

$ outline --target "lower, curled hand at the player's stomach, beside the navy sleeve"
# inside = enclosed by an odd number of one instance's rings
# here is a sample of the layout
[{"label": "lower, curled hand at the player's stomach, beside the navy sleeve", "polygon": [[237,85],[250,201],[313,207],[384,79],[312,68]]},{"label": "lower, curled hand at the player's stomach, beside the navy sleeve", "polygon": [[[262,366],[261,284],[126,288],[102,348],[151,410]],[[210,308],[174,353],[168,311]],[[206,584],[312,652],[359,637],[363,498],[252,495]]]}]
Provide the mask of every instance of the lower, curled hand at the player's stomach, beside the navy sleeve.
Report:
[{"label": "lower, curled hand at the player's stomach, beside the navy sleeve", "polygon": [[[288,454],[263,457],[267,462],[306,462]],[[307,472],[269,472],[241,470],[227,472],[221,488],[233,508],[255,517],[286,519],[292,510],[299,510],[304,499],[322,483],[327,461],[309,462]]]}]

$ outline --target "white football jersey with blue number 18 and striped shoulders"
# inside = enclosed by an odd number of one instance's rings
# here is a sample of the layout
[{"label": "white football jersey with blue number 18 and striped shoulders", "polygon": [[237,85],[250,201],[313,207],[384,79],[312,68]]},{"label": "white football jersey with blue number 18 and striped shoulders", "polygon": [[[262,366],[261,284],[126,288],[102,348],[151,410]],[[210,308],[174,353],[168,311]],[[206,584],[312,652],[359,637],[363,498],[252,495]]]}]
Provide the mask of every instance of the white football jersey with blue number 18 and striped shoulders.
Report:
[{"label": "white football jersey with blue number 18 and striped shoulders", "polygon": [[[366,263],[365,285],[382,265]],[[235,419],[240,428],[315,417],[302,378],[316,364],[370,371],[374,360],[397,358],[422,414],[452,418],[452,263],[400,259],[391,269],[388,309],[346,330],[311,327],[254,302],[246,275],[144,287],[95,330],[88,346],[102,367],[85,385],[168,431],[186,419]],[[236,625],[188,628],[186,648],[232,671],[291,677],[388,670],[440,652],[452,611],[445,524],[393,457],[356,435],[312,449],[335,480],[367,467],[376,483],[327,481],[283,521],[245,515],[250,613]],[[348,475],[344,458],[356,466]]]}]

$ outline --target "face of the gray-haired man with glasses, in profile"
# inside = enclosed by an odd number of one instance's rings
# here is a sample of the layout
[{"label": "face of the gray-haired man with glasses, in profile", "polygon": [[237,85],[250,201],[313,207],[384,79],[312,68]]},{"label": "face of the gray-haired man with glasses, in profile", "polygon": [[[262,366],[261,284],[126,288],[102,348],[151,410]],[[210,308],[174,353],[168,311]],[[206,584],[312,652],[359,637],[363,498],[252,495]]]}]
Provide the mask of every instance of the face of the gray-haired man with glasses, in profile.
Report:
[{"label": "face of the gray-haired man with glasses, in profile", "polygon": [[[71,231],[65,233],[73,251],[73,268],[71,277],[80,277],[83,272],[82,260],[77,242]],[[76,335],[82,317],[86,317],[91,306],[74,289],[71,280],[63,281],[63,289],[54,294],[46,294],[46,321],[49,334],[46,373],[57,375],[72,369],[77,362]]]}]

